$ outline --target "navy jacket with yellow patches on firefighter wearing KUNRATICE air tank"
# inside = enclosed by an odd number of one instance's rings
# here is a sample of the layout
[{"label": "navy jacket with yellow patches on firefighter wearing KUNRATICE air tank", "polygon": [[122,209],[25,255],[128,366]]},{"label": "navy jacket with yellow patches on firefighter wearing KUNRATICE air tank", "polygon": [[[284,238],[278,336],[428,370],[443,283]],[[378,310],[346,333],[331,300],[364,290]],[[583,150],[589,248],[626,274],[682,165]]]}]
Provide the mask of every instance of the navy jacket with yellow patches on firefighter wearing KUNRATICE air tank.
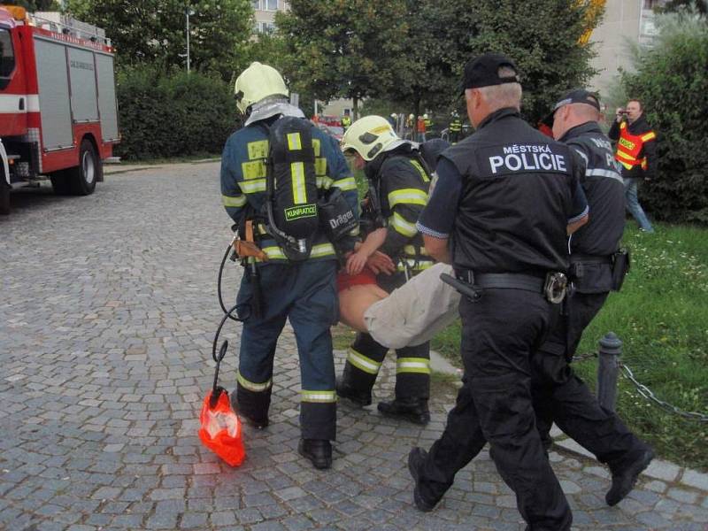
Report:
[{"label": "navy jacket with yellow patches on firefighter wearing KUNRATICE air tank", "polygon": [[[268,157],[268,125],[278,117],[250,124],[229,136],[221,155],[221,199],[231,219],[242,216],[258,219],[266,204],[266,160]],[[330,187],[342,189],[347,202],[358,211],[357,183],[334,138],[312,127],[317,186],[324,194]],[[269,262],[287,262],[278,244],[257,224],[258,246]],[[336,259],[335,248],[324,233],[318,231],[312,242],[310,259]]]}]

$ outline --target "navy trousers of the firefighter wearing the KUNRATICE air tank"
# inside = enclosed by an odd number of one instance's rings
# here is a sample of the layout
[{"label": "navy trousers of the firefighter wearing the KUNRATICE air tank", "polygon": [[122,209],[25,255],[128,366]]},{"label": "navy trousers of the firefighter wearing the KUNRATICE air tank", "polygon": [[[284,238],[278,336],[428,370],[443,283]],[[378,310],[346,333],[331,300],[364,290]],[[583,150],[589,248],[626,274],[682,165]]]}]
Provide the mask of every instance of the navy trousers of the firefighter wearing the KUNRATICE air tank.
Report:
[{"label": "navy trousers of the firefighter wearing the KUNRATICE air tank", "polygon": [[[338,320],[335,260],[271,263],[258,267],[263,311],[243,323],[236,399],[249,419],[267,419],[273,389],[273,358],[285,320],[295,331],[300,358],[300,427],[304,439],[334,440],[335,363],[330,327]],[[237,302],[253,296],[244,273]]]}]

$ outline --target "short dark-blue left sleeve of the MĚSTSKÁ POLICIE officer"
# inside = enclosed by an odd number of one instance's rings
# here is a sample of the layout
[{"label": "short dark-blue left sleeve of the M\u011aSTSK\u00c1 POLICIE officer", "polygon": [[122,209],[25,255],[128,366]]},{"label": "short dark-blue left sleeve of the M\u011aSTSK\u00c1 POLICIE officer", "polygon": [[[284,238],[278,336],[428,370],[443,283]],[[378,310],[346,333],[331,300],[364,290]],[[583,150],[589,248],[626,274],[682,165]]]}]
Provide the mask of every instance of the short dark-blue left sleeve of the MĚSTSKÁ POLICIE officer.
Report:
[{"label": "short dark-blue left sleeve of the M\u011aSTSK\u00c1 POLICIE officer", "polygon": [[419,233],[434,238],[449,238],[455,225],[459,198],[462,193],[462,176],[447,158],[440,158],[435,189],[420,214],[416,227]]}]

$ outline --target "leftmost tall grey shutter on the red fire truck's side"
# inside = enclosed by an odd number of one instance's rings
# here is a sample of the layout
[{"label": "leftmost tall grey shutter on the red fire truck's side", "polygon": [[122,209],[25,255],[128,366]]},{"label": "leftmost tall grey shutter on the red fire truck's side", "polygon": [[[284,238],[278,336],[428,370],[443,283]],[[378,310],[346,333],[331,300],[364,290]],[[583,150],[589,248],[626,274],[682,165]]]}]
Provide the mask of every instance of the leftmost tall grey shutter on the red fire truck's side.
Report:
[{"label": "leftmost tall grey shutter on the red fire truck's side", "polygon": [[73,147],[69,78],[63,44],[35,37],[42,147],[56,150]]}]

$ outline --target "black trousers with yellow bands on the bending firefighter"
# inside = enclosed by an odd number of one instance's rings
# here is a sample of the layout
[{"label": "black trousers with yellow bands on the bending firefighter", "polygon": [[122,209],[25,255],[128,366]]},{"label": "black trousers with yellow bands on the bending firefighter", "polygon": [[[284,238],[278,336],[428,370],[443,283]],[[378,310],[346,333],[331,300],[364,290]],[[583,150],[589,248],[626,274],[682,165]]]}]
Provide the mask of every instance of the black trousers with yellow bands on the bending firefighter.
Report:
[{"label": "black trousers with yellow bands on the bending firefighter", "polygon": [[[391,292],[405,283],[404,273],[380,274],[381,289]],[[371,393],[388,347],[371,335],[359,332],[347,351],[342,373],[343,383],[351,389]],[[405,401],[425,400],[430,396],[430,342],[396,349],[396,398]]]}]

